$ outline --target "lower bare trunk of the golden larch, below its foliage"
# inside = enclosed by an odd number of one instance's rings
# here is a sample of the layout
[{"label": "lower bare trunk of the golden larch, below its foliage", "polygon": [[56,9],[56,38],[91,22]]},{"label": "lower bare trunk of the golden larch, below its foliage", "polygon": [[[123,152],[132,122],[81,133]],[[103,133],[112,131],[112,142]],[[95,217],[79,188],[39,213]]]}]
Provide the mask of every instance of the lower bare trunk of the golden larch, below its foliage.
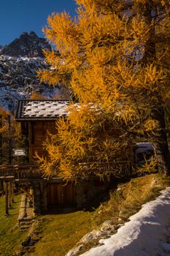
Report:
[{"label": "lower bare trunk of the golden larch, below its foliage", "polygon": [[152,110],[151,116],[157,121],[155,135],[152,137],[152,145],[158,161],[158,172],[166,176],[170,174],[170,154],[163,108],[157,107]]}]

